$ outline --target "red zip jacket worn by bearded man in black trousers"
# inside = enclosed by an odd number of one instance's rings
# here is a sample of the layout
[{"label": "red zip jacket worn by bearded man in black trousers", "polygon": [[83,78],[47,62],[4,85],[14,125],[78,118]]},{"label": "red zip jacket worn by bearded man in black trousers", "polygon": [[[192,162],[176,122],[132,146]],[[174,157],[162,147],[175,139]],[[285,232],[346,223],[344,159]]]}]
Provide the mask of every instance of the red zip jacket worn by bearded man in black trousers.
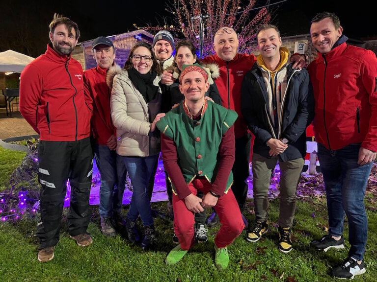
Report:
[{"label": "red zip jacket worn by bearded man in black trousers", "polygon": [[91,111],[85,102],[82,68],[52,45],[21,73],[20,112],[44,141],[89,137]]}]

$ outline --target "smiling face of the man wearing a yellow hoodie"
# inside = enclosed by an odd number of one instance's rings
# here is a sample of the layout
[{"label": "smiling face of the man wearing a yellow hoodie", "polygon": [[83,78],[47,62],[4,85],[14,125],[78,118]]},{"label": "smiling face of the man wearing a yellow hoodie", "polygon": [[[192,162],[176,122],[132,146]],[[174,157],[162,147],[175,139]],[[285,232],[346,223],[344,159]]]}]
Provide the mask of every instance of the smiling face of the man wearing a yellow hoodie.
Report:
[{"label": "smiling face of the man wearing a yellow hoodie", "polygon": [[263,58],[280,57],[281,38],[274,28],[261,30],[257,35],[257,43]]}]

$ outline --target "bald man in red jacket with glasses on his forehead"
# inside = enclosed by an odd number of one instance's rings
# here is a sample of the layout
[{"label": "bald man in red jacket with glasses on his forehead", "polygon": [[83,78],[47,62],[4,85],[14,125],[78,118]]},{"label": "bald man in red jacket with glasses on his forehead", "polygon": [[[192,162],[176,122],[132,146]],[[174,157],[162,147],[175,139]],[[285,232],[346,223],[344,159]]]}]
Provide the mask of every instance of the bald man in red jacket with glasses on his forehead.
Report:
[{"label": "bald man in red jacket with glasses on his forehead", "polygon": [[[236,111],[238,118],[234,124],[236,137],[235,162],[232,168],[234,182],[233,193],[242,211],[246,196],[249,176],[251,137],[247,132],[247,125],[241,113],[241,84],[243,76],[251,70],[257,61],[253,54],[238,53],[238,38],[236,31],[231,27],[221,27],[215,34],[214,39],[215,55],[204,58],[206,63],[216,63],[220,68],[220,77],[215,80],[218,92],[221,96],[222,106]],[[291,61],[296,63],[294,68],[301,68],[305,65],[305,59],[301,55],[293,55]],[[297,66],[298,65],[298,66]],[[242,215],[245,227],[247,221]],[[214,212],[207,221],[209,227],[219,223],[218,215]]]}]

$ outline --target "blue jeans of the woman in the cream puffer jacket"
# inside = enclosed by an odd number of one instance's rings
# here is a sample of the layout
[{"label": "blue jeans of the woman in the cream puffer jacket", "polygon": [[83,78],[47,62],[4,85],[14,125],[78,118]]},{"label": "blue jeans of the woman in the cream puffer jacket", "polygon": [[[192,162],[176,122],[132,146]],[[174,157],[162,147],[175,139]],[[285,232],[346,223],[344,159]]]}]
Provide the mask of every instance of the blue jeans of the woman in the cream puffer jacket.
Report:
[{"label": "blue jeans of the woman in the cream puffer jacket", "polygon": [[144,226],[153,225],[151,203],[148,196],[148,183],[159,154],[148,157],[122,157],[133,187],[130,209],[127,218],[136,221],[140,214]]}]

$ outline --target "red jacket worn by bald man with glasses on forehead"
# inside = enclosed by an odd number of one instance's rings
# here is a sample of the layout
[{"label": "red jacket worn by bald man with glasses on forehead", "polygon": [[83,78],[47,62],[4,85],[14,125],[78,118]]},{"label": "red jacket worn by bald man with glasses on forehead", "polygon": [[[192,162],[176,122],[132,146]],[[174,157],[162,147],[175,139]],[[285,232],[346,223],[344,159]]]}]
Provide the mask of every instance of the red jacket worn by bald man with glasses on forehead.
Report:
[{"label": "red jacket worn by bald man with glasses on forehead", "polygon": [[220,68],[220,77],[215,79],[221,105],[236,111],[238,118],[234,123],[235,137],[247,134],[247,125],[241,113],[241,85],[243,76],[251,70],[257,61],[253,54],[238,54],[230,62],[220,59],[217,54],[203,59],[206,63],[216,63]]}]

